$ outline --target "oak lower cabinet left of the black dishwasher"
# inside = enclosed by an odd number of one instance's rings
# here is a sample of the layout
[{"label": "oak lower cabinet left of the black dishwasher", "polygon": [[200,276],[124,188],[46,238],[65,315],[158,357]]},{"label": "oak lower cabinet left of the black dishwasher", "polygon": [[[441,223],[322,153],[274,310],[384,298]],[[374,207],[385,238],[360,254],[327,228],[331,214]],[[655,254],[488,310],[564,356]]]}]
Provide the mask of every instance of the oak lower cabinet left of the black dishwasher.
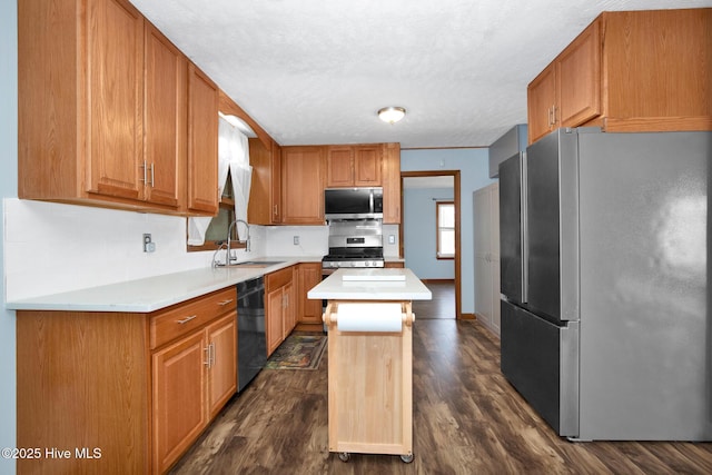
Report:
[{"label": "oak lower cabinet left of the black dishwasher", "polygon": [[165,473],[237,389],[234,287],[152,314],[18,310],[16,327],[17,446],[42,455],[18,474]]}]

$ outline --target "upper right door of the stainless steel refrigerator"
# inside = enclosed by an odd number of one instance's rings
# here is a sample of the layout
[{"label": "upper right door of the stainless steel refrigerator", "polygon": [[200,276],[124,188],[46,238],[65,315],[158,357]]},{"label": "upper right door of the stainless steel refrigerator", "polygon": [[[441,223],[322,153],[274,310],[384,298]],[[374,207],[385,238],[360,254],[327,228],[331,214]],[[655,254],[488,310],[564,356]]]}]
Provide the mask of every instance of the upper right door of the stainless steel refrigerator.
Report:
[{"label": "upper right door of the stainless steel refrigerator", "polygon": [[575,129],[527,148],[527,303],[555,323],[578,319],[578,157]]}]

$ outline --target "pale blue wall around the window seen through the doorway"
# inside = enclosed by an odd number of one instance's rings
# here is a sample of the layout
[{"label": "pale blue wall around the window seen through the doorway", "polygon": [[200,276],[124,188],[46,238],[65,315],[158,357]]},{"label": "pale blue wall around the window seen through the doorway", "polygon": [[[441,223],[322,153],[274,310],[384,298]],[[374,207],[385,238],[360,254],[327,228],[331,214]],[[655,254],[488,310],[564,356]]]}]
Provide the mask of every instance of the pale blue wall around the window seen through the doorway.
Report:
[{"label": "pale blue wall around the window seen through the doorway", "polygon": [[408,268],[421,279],[454,279],[455,263],[437,259],[435,198],[453,199],[453,188],[406,188],[403,247]]}]

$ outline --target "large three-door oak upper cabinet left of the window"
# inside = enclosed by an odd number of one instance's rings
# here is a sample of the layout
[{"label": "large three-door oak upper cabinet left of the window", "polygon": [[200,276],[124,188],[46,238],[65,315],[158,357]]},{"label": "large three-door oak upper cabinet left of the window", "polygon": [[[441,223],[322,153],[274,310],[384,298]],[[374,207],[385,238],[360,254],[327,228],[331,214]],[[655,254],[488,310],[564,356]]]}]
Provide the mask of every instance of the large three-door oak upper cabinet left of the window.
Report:
[{"label": "large three-door oak upper cabinet left of the window", "polygon": [[210,166],[196,167],[187,208],[188,146],[194,165],[211,155],[217,170],[217,99],[208,98],[217,88],[205,76],[207,88],[191,81],[188,111],[187,63],[127,0],[19,2],[18,196],[214,214]]}]

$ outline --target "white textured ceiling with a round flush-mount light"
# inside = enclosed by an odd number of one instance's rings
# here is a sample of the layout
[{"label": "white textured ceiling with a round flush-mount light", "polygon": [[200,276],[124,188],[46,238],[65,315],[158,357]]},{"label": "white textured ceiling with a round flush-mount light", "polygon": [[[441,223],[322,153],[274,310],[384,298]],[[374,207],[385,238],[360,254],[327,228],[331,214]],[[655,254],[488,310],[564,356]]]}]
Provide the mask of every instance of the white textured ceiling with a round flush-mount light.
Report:
[{"label": "white textured ceiling with a round flush-mount light", "polygon": [[[601,11],[712,0],[131,0],[280,145],[490,146]],[[407,116],[387,125],[385,106]]]}]

